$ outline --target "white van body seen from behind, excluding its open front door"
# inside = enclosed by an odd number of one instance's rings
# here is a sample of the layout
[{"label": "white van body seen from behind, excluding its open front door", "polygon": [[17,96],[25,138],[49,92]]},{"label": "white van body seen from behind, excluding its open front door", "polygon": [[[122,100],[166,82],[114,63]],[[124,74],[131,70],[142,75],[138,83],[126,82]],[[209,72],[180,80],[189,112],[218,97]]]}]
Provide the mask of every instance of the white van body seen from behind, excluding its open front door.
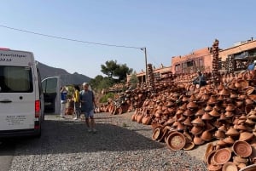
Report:
[{"label": "white van body seen from behind, excluding its open front door", "polygon": [[44,94],[31,52],[0,48],[0,138],[41,135]]}]

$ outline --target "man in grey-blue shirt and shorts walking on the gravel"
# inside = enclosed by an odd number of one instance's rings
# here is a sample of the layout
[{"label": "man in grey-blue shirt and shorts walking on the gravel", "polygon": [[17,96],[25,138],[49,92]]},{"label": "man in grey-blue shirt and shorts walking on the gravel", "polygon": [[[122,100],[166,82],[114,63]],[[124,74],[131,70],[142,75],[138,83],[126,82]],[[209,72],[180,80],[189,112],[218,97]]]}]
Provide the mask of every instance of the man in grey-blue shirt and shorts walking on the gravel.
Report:
[{"label": "man in grey-blue shirt and shorts walking on the gravel", "polygon": [[94,109],[96,107],[95,97],[89,89],[89,83],[83,83],[84,90],[80,91],[81,113],[84,113],[85,123],[88,127],[88,132],[96,133],[94,121]]}]

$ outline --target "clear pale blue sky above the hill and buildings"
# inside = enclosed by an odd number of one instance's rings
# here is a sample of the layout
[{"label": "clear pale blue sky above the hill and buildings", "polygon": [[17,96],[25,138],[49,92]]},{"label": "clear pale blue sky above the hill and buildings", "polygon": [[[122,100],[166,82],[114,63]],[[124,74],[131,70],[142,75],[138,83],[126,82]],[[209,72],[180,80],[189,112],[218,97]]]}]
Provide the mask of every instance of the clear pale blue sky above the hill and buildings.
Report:
[{"label": "clear pale blue sky above the hill and buildings", "polygon": [[[42,37],[0,27],[0,47],[32,51],[36,60],[88,77],[117,60],[134,71],[148,63],[171,66],[172,56],[256,38],[256,1],[244,0],[8,0],[1,3],[0,26],[115,48]],[[104,76],[104,75],[103,75]]]}]

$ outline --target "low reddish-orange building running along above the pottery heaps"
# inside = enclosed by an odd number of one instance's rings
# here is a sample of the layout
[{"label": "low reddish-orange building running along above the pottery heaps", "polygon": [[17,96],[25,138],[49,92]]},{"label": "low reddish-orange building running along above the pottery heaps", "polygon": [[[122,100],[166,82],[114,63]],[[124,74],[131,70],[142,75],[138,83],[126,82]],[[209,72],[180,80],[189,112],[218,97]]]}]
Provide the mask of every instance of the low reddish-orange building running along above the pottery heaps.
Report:
[{"label": "low reddish-orange building running along above the pottery heaps", "polygon": [[[221,42],[220,42],[221,44]],[[247,66],[256,60],[256,40],[253,38],[247,41],[234,43],[230,48],[219,48],[218,57],[220,60],[219,70],[234,71],[247,69]],[[154,68],[154,77],[164,79],[172,74],[190,74],[197,70],[212,72],[212,47],[196,49],[190,54],[177,55],[171,58],[172,66],[160,66]],[[145,71],[136,74],[139,83],[145,83]],[[127,82],[131,75],[127,76]]]}]

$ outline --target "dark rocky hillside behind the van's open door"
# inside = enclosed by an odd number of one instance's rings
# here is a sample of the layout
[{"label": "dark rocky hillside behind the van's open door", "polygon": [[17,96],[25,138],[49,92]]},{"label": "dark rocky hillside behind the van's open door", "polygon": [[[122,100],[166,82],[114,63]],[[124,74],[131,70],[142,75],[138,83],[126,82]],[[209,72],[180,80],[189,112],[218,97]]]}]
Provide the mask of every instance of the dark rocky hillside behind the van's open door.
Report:
[{"label": "dark rocky hillside behind the van's open door", "polygon": [[77,72],[73,74],[61,68],[46,66],[38,62],[38,69],[41,73],[42,80],[46,77],[61,77],[61,85],[82,84],[90,82],[90,77],[84,76]]}]

